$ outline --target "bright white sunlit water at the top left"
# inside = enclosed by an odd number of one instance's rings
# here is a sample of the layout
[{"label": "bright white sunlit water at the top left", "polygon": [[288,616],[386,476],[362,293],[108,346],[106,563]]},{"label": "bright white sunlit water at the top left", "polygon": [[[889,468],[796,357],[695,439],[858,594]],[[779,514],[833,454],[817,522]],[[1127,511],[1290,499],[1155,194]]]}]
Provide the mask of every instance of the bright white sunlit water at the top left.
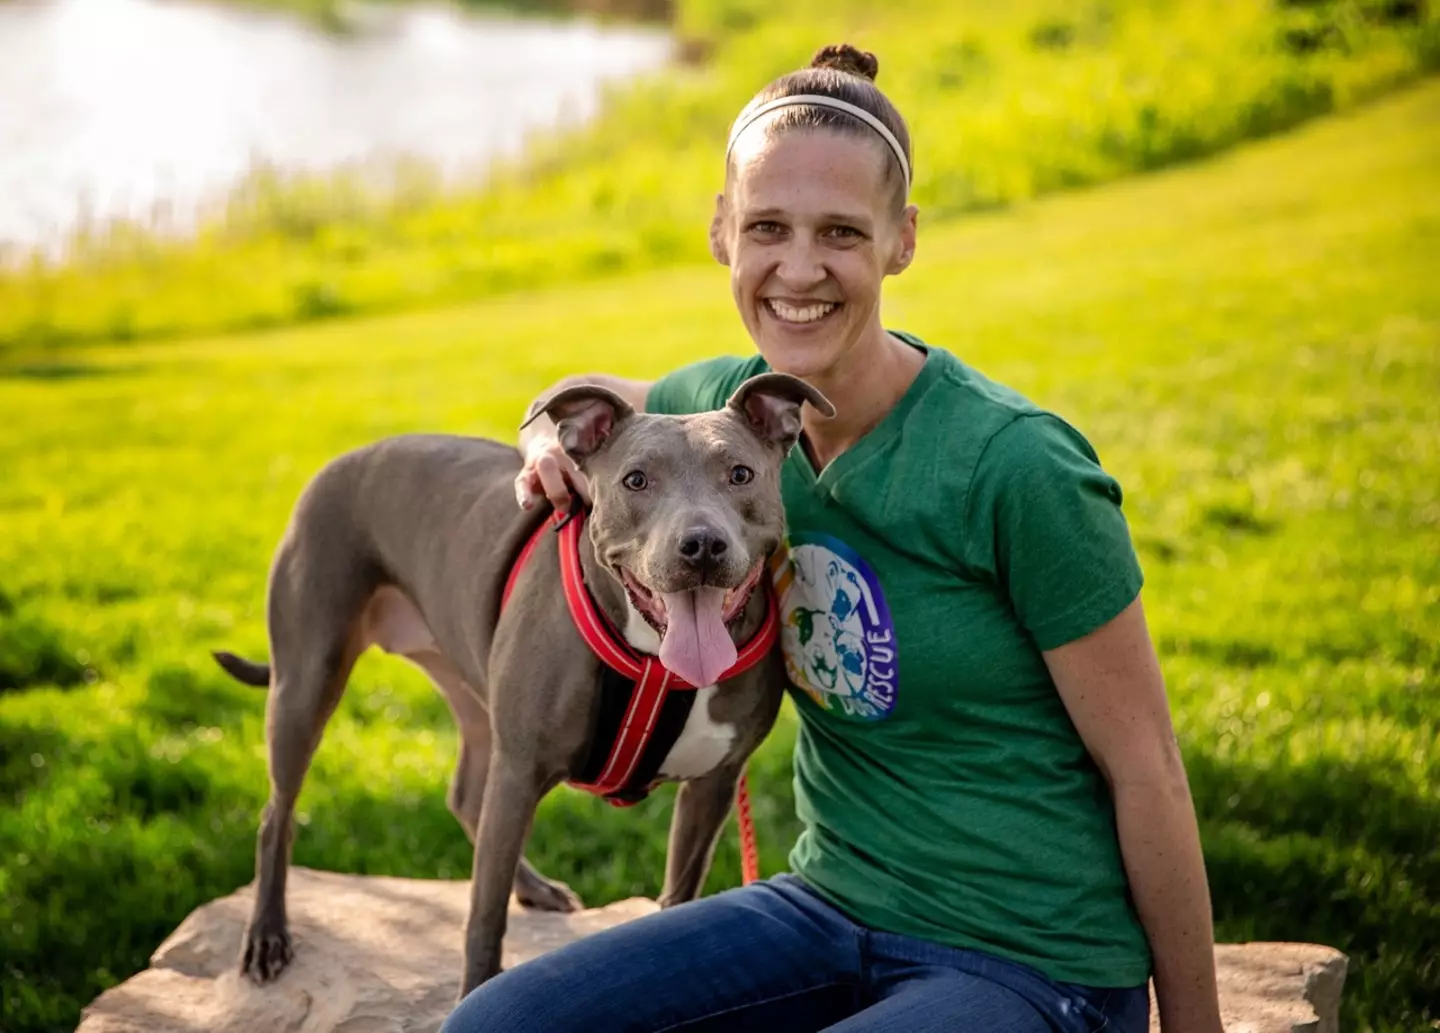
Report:
[{"label": "bright white sunlit water at the top left", "polygon": [[405,154],[477,174],[670,56],[648,29],[354,13],[356,32],[331,36],[186,0],[0,0],[0,245],[52,246],[111,218],[183,225],[258,163]]}]

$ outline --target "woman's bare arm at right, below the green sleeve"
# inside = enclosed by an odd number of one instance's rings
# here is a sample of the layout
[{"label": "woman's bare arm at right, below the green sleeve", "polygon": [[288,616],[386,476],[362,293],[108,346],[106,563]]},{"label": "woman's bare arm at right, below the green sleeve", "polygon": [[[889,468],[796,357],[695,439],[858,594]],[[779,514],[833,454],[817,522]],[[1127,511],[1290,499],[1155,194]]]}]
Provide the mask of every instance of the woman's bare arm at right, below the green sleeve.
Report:
[{"label": "woman's bare arm at right, below the green sleeve", "polygon": [[1125,870],[1155,957],[1161,1029],[1223,1033],[1195,805],[1140,601],[1044,657],[1110,784]]}]

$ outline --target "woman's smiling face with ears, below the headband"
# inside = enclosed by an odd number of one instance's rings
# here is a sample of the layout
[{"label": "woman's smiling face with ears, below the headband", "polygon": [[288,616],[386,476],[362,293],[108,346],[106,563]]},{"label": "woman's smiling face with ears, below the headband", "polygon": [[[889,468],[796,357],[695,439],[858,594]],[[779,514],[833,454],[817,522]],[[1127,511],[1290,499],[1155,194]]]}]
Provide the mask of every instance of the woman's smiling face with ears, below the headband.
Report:
[{"label": "woman's smiling face with ears, below the headband", "polygon": [[737,141],[711,249],[772,369],[838,375],[883,333],[880,282],[910,264],[916,228],[913,206],[896,210],[890,160],[878,140],[828,130]]}]

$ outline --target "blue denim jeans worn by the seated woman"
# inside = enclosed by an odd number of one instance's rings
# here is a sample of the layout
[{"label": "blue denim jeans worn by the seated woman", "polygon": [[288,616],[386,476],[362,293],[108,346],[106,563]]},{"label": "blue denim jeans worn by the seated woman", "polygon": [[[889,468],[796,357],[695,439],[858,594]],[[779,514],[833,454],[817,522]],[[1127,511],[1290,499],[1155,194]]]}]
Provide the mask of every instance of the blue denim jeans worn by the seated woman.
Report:
[{"label": "blue denim jeans worn by the seated woman", "polygon": [[782,875],[647,915],[501,972],[441,1033],[1146,1033],[1145,985],[855,925]]}]

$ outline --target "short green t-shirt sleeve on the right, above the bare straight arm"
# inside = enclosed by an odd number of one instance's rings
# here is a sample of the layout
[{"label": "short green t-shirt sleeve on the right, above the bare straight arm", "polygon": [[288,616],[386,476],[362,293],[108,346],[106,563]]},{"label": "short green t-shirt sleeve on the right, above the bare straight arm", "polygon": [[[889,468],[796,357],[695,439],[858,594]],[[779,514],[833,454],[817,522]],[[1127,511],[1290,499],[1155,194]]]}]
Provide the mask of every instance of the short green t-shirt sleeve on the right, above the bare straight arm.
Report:
[{"label": "short green t-shirt sleeve on the right, above the bare straight arm", "polygon": [[981,452],[965,504],[966,559],[995,578],[1038,648],[1090,634],[1139,595],[1120,501],[1120,484],[1057,416],[1018,416]]}]

